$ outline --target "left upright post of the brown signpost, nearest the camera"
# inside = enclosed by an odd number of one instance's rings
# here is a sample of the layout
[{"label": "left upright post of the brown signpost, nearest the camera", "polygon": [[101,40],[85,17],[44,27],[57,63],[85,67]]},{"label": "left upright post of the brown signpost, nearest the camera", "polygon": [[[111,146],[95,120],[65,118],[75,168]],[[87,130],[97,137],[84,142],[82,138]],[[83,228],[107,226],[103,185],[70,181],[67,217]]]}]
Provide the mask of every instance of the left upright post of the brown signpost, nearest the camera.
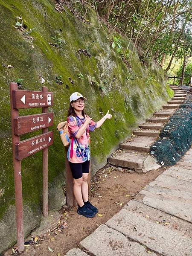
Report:
[{"label": "left upright post of the brown signpost, nearest the camera", "polygon": [[20,137],[14,134],[14,118],[19,115],[19,111],[13,108],[13,90],[17,90],[17,83],[10,83],[10,102],[11,102],[11,122],[12,122],[12,151],[13,169],[15,183],[15,207],[17,223],[17,249],[21,253],[24,251],[24,231],[23,231],[23,198],[21,163],[15,159],[15,144],[20,142]]}]

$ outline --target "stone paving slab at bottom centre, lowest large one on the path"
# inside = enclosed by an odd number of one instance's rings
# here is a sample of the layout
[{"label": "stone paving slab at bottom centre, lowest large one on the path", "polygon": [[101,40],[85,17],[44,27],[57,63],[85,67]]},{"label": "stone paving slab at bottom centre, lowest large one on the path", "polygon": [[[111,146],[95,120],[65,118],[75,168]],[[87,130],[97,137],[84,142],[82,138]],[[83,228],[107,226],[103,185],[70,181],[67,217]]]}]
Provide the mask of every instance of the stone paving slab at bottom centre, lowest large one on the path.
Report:
[{"label": "stone paving slab at bottom centre, lowest large one on the path", "polygon": [[[189,241],[187,242],[189,243]],[[149,256],[143,245],[128,240],[122,233],[104,224],[101,224],[92,234],[81,241],[80,245],[89,252],[89,255],[95,256]],[[184,251],[183,247],[184,245],[182,244],[182,251]],[[150,256],[157,256],[157,254],[150,252]]]}]

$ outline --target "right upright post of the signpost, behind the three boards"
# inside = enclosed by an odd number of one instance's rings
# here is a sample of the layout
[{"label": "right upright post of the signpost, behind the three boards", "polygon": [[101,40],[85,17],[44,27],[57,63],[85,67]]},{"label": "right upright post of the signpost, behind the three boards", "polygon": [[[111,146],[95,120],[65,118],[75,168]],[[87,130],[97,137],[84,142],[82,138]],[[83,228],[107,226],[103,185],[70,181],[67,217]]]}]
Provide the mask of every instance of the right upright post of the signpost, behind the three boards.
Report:
[{"label": "right upright post of the signpost, behind the three boards", "polygon": [[[42,87],[42,92],[47,92],[47,87]],[[47,113],[48,107],[42,108],[42,113]],[[42,133],[46,133],[48,128],[42,129]],[[43,215],[48,216],[48,148],[43,149]]]}]

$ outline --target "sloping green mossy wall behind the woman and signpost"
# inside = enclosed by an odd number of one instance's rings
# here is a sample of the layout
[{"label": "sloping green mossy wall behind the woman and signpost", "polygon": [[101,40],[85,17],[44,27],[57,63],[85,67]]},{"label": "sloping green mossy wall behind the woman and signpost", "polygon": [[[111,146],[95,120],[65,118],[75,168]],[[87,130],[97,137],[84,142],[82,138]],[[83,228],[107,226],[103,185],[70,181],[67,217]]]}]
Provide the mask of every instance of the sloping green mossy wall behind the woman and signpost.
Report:
[{"label": "sloping green mossy wall behind the woman and signpost", "polygon": [[[23,90],[48,87],[54,93],[54,144],[49,148],[49,209],[65,203],[64,147],[56,131],[65,120],[69,96],[87,97],[86,111],[99,120],[108,110],[113,119],[94,131],[91,140],[92,174],[107,162],[119,143],[138,122],[172,96],[164,72],[152,62],[145,67],[134,50],[131,69],[113,49],[113,37],[126,48],[128,39],[110,32],[88,9],[84,23],[64,8],[57,12],[52,0],[0,0],[0,252],[16,241],[9,83],[20,81]],[[22,22],[24,30],[16,22]],[[55,47],[56,46],[56,47]],[[85,55],[79,49],[86,49]],[[129,52],[131,53],[130,44]],[[12,67],[8,66],[11,65]],[[82,74],[79,79],[79,74]],[[62,83],[55,82],[61,76]],[[45,80],[41,84],[42,78]],[[20,80],[23,79],[23,80]],[[74,81],[74,82],[73,82]],[[20,111],[20,115],[41,109]],[[21,140],[40,134],[21,136]],[[22,161],[25,236],[38,226],[42,207],[42,152]]]}]

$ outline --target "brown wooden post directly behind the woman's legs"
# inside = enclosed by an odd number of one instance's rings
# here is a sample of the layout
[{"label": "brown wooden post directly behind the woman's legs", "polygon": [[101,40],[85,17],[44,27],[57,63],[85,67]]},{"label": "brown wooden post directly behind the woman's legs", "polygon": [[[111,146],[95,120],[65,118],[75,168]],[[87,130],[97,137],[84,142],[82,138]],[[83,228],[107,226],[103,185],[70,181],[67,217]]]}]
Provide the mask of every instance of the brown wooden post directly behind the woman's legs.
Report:
[{"label": "brown wooden post directly behind the woman's legs", "polygon": [[68,147],[65,147],[65,170],[66,170],[66,202],[67,205],[73,207],[77,204],[76,198],[73,194],[73,176],[70,169],[69,161],[67,159]]}]

